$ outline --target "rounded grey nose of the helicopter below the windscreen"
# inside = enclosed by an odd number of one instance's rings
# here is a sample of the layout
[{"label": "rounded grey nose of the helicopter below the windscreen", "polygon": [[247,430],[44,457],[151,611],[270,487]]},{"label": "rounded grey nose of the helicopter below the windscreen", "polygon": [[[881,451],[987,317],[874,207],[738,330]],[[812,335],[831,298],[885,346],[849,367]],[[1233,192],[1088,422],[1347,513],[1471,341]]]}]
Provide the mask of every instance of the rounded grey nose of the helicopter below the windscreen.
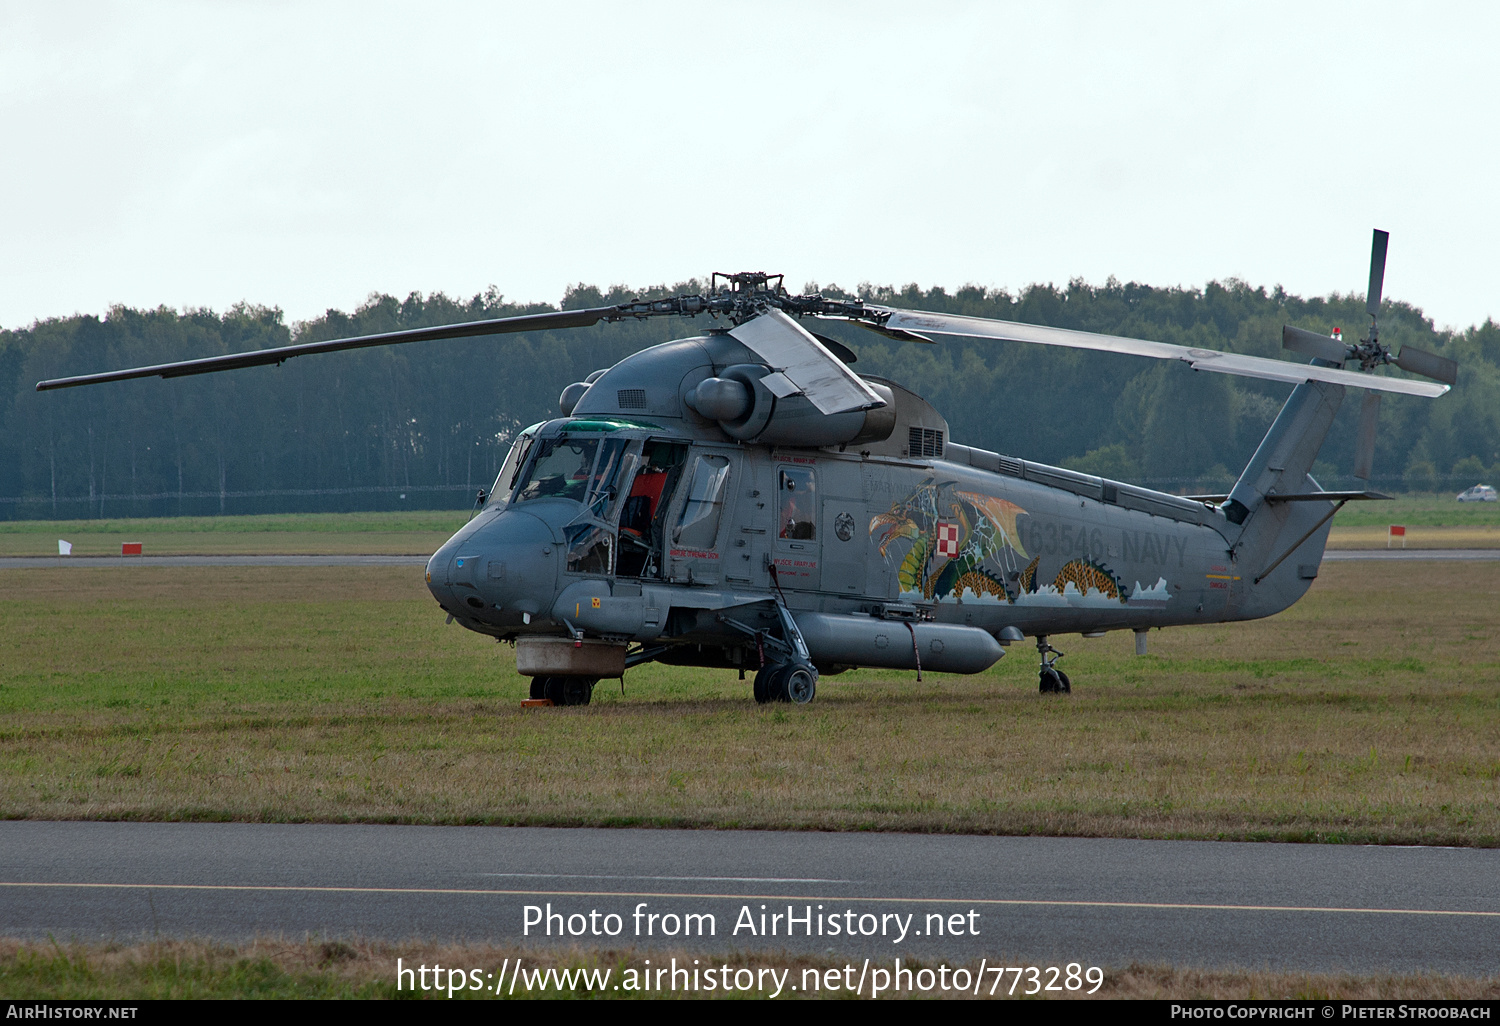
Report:
[{"label": "rounded grey nose of the helicopter below the windscreen", "polygon": [[428,590],[458,616],[520,626],[552,608],[560,560],[546,520],[486,510],[428,560]]}]

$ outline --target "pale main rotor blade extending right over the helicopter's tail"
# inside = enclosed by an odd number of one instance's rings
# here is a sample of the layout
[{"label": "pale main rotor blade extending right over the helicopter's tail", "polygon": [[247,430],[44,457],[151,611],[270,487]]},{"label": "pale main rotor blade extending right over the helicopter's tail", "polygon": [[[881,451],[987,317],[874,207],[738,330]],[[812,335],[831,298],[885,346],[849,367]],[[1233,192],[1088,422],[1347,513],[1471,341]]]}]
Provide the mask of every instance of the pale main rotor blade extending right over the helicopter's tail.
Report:
[{"label": "pale main rotor blade extending right over the helicopter's tail", "polygon": [[1218,350],[1190,350],[1185,345],[1150,342],[1148,339],[1126,339],[1118,334],[1095,334],[1094,332],[1072,332],[1070,328],[1042,327],[1041,324],[1018,324],[1016,321],[992,321],[984,316],[962,316],[957,314],[898,310],[888,306],[870,309],[882,312],[890,310],[891,316],[885,321],[885,326],[900,328],[903,332],[933,332],[934,334],[962,334],[975,339],[1004,339],[1006,342],[1065,345],[1074,350],[1098,350],[1101,352],[1128,352],[1131,356],[1148,356],[1156,360],[1180,360],[1194,370],[1236,374],[1245,378],[1290,381],[1293,384],[1300,384],[1304,381],[1329,381],[1332,384],[1350,386],[1354,388],[1377,388],[1380,392],[1400,392],[1408,396],[1428,398],[1440,396],[1448,392],[1448,386],[1434,386],[1425,381],[1380,378],[1359,370],[1320,368],[1316,364],[1288,363],[1286,360],[1268,360],[1264,357],[1220,352]]}]

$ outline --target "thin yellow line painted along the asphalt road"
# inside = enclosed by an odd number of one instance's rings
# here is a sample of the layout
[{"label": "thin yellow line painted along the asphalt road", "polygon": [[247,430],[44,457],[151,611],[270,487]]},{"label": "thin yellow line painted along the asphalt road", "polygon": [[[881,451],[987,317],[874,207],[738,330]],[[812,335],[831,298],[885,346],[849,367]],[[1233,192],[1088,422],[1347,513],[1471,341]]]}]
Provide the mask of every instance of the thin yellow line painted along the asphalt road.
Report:
[{"label": "thin yellow line painted along the asphalt road", "polygon": [[1206,904],[1196,902],[1068,902],[1059,898],[951,898],[951,897],[838,897],[818,894],[698,894],[693,891],[501,891],[460,886],[304,886],[282,884],[24,884],[0,886],[93,888],[120,891],[292,891],[314,894],[464,894],[470,897],[651,897],[708,898],[718,902],[886,902],[902,904],[986,904],[1071,909],[1164,909],[1192,912],[1348,912],[1359,915],[1460,915],[1500,918],[1500,912],[1473,909],[1352,909],[1323,904]]}]

